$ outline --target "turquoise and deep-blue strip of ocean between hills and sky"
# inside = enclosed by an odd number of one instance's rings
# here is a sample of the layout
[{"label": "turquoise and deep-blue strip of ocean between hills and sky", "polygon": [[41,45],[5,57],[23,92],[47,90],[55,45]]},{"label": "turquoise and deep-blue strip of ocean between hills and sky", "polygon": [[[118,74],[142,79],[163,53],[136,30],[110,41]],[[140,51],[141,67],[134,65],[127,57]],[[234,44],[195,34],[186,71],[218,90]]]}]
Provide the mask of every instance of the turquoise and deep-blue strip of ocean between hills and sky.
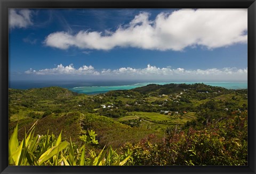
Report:
[{"label": "turquoise and deep-blue strip of ocean between hills and sky", "polygon": [[78,93],[98,93],[99,91],[129,90],[148,84],[195,84],[220,86],[227,89],[247,89],[246,81],[9,81],[11,89],[32,89],[59,86]]}]

